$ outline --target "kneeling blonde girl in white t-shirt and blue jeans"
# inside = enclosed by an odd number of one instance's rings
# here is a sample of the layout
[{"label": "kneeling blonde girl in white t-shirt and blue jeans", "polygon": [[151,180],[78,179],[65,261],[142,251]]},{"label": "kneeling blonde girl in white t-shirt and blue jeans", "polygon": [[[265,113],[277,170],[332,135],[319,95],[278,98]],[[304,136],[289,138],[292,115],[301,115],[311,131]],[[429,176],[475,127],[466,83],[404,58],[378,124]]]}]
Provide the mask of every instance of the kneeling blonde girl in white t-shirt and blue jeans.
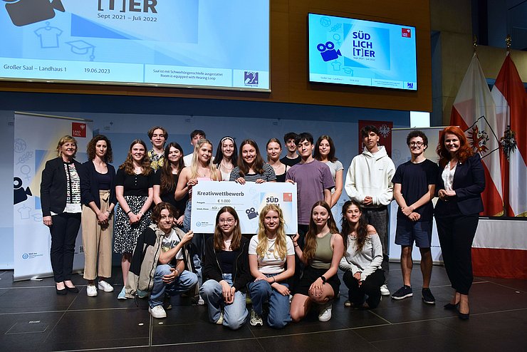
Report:
[{"label": "kneeling blonde girl in white t-shirt and blue jeans", "polygon": [[[284,281],[295,273],[295,249],[291,237],[284,231],[285,222],[280,207],[268,204],[260,212],[258,234],[249,243],[249,267],[254,282],[249,284],[253,310],[251,326],[263,326],[262,304],[268,301],[267,323],[271,328],[283,328],[291,321],[289,286]],[[286,266],[285,269],[284,266]]]}]

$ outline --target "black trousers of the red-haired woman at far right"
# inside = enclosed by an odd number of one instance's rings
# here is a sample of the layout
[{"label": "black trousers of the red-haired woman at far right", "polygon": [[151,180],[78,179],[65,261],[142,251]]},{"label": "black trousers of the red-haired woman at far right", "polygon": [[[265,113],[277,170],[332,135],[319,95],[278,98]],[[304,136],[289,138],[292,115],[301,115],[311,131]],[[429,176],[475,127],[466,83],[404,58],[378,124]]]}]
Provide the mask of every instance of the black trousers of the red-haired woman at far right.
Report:
[{"label": "black trousers of the red-haired woman at far right", "polygon": [[436,217],[444,269],[459,294],[469,294],[474,279],[471,254],[478,222],[478,214]]}]

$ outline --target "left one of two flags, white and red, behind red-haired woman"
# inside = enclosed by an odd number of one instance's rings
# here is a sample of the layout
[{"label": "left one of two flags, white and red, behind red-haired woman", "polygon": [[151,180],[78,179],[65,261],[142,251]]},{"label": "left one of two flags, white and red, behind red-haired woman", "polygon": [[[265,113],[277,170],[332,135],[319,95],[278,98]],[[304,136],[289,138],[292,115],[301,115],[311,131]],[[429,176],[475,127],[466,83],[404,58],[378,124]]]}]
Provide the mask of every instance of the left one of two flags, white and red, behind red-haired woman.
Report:
[{"label": "left one of two flags, white and red, behind red-haired woman", "polygon": [[486,180],[486,187],[481,195],[484,203],[481,215],[501,216],[503,200],[496,106],[476,53],[452,105],[450,125],[457,125],[464,130],[472,150],[481,156]]}]

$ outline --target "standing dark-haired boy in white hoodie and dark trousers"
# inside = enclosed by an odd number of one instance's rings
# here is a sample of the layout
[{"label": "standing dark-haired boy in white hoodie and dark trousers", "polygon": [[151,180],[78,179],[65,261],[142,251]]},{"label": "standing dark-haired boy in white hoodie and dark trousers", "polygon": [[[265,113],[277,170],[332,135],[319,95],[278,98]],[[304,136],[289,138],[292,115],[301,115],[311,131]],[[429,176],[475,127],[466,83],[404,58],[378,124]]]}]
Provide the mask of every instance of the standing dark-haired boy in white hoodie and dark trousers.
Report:
[{"label": "standing dark-haired boy in white hoodie and dark trousers", "polygon": [[[378,145],[379,130],[367,125],[360,130],[365,148],[351,161],[344,189],[348,197],[364,207],[368,224],[377,229],[382,242],[382,270],[388,276],[388,205],[393,200],[392,177],[395,165],[385,147]],[[390,295],[386,284],[380,288],[383,296]]]}]

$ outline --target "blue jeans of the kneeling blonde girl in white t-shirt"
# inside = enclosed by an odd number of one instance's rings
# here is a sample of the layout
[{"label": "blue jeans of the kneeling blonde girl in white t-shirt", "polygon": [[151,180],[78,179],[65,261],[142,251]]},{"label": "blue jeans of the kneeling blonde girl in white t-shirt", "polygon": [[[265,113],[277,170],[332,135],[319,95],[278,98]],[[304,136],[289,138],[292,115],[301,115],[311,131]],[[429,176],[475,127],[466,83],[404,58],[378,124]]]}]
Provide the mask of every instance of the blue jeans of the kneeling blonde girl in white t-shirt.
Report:
[{"label": "blue jeans of the kneeling blonde girl in white t-shirt", "polygon": [[[274,276],[266,274],[266,276]],[[288,284],[282,284],[288,286]],[[262,304],[265,301],[269,302],[269,315],[267,316],[267,324],[271,328],[283,328],[291,321],[289,314],[289,295],[283,296],[276,289],[271,287],[265,280],[253,281],[249,283],[249,291],[251,292],[251,301],[253,301],[253,309],[261,316]]]}]

